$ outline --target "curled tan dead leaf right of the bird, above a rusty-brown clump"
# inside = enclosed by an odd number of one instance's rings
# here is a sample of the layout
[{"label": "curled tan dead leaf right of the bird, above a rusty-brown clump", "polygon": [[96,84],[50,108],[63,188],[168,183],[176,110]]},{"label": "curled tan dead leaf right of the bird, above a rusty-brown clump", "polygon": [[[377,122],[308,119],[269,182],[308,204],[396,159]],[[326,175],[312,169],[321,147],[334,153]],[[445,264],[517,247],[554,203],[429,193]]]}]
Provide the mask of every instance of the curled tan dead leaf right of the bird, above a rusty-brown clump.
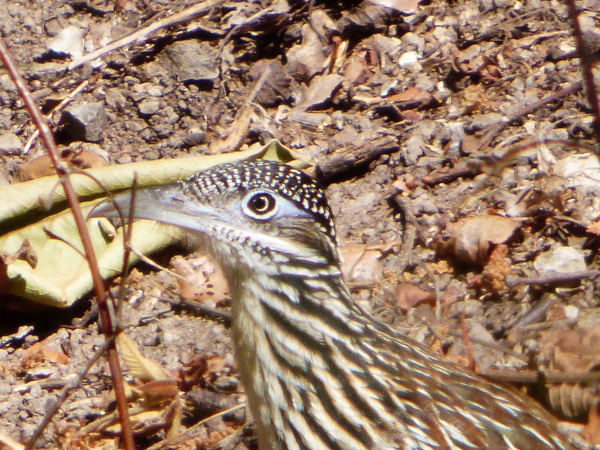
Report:
[{"label": "curled tan dead leaf right of the bird, above a rusty-brown clump", "polygon": [[463,262],[484,264],[493,245],[508,241],[518,227],[518,221],[499,215],[466,217],[448,225],[450,238],[439,242],[437,250]]}]

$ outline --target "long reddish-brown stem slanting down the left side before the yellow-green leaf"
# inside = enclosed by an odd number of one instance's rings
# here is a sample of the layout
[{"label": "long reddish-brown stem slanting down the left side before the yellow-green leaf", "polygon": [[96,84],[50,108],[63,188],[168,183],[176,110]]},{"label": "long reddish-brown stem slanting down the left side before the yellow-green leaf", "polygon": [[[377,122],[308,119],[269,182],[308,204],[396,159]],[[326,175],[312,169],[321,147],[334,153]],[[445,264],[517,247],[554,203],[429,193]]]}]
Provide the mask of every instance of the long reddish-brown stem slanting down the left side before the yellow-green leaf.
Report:
[{"label": "long reddish-brown stem slanting down the left side before the yellow-green leaf", "polygon": [[[29,91],[29,88],[25,83],[25,79],[23,79],[19,70],[17,69],[17,66],[14,64],[14,60],[8,52],[8,48],[1,37],[0,58],[2,59],[2,62],[4,62],[4,66],[6,67],[8,74],[10,74],[14,85],[17,87],[19,95],[23,98],[23,102],[25,103],[25,106],[29,111],[29,114],[31,115],[32,121],[34,122],[38,130],[40,130],[41,140],[48,151],[50,159],[52,160],[52,164],[56,169],[56,173],[58,173],[59,179],[62,184],[62,188],[65,191],[65,197],[67,197],[68,204],[71,208],[71,214],[73,214],[77,230],[79,231],[79,235],[82,240],[83,250],[85,251],[86,259],[88,260],[89,270],[92,275],[94,290],[98,301],[98,312],[104,329],[104,336],[108,340],[112,337],[115,329],[113,327],[112,319],[110,317],[110,311],[106,302],[106,296],[104,295],[104,280],[100,275],[100,269],[98,268],[98,260],[96,259],[94,247],[92,247],[92,241],[89,236],[89,231],[85,224],[85,218],[83,218],[83,213],[79,206],[79,199],[77,198],[77,194],[73,188],[73,184],[71,184],[71,179],[68,176],[67,164],[65,164],[65,162],[59,157],[58,149],[56,149],[56,144],[54,142],[52,132],[50,131],[50,128],[48,126],[48,122],[41,114],[39,107],[37,106],[34,98],[31,95],[31,91]],[[115,389],[117,407],[119,410],[119,415],[121,417],[121,429],[123,430],[124,445],[127,450],[133,450],[135,446],[133,442],[133,434],[131,433],[131,424],[129,421],[129,416],[127,415],[127,399],[125,398],[123,374],[121,373],[121,367],[119,365],[119,356],[116,352],[114,342],[112,342],[112,345],[109,346],[107,353],[110,374],[112,376],[113,381],[113,388]],[[37,430],[35,430],[34,435],[27,442],[25,448],[32,448],[42,432],[43,428],[37,428]]]}]

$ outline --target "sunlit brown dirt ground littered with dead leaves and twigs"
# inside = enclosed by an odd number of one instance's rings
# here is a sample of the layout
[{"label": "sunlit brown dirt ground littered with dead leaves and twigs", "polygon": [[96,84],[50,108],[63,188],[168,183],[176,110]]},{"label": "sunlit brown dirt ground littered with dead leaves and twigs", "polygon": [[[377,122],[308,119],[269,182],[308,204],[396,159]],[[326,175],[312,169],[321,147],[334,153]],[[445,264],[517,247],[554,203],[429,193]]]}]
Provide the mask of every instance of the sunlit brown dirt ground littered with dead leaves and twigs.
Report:
[{"label": "sunlit brown dirt ground littered with dead leaves and twigs", "polygon": [[[600,2],[576,4],[597,58]],[[202,5],[7,0],[0,32],[73,164],[280,140],[326,186],[365,309],[459,364],[472,352],[476,370],[495,379],[565,374],[568,383],[527,386],[556,415],[586,422],[600,398],[600,169],[565,3]],[[46,173],[40,140],[28,143],[34,131],[0,67],[0,183]],[[212,270],[181,248],[155,260],[180,273]],[[211,289],[196,294],[197,311],[174,275],[134,269],[122,323],[148,358],[125,355],[139,448],[211,448],[227,436],[220,448],[253,448],[235,408],[244,395],[226,292]],[[0,433],[23,443],[104,341],[89,298],[35,309],[0,317]],[[175,393],[149,394],[136,361],[178,380]],[[116,448],[113,403],[100,358],[35,446]]]}]

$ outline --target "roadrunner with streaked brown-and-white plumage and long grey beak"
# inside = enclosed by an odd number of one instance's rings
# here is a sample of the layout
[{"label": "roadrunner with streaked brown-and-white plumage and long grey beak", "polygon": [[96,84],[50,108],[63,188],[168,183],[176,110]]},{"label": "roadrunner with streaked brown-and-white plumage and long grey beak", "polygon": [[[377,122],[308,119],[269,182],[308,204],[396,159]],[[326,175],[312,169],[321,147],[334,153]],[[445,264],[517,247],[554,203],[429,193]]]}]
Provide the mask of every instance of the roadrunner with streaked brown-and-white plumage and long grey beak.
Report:
[{"label": "roadrunner with streaked brown-and-white plumage and long grey beak", "polygon": [[[128,215],[130,194],[116,196]],[[94,217],[116,217],[104,202]],[[362,310],[323,190],[273,161],[220,164],[136,193],[135,217],[187,229],[229,281],[236,362],[268,449],[568,449],[535,401]]]}]

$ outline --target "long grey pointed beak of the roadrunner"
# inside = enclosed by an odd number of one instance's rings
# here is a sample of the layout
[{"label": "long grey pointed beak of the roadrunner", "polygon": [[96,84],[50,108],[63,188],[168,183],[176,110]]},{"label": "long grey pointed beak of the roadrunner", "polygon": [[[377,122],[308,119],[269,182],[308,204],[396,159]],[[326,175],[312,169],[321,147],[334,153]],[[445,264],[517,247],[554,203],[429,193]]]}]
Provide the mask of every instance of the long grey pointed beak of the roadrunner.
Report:
[{"label": "long grey pointed beak of the roadrunner", "polygon": [[[215,208],[203,205],[191,196],[185,196],[179,185],[167,185],[137,189],[132,201],[131,191],[116,194],[94,206],[88,218],[122,217],[156,220],[161,223],[199,230],[203,219],[215,219]],[[133,215],[131,206],[133,205]],[[120,211],[120,212],[119,212]]]}]

